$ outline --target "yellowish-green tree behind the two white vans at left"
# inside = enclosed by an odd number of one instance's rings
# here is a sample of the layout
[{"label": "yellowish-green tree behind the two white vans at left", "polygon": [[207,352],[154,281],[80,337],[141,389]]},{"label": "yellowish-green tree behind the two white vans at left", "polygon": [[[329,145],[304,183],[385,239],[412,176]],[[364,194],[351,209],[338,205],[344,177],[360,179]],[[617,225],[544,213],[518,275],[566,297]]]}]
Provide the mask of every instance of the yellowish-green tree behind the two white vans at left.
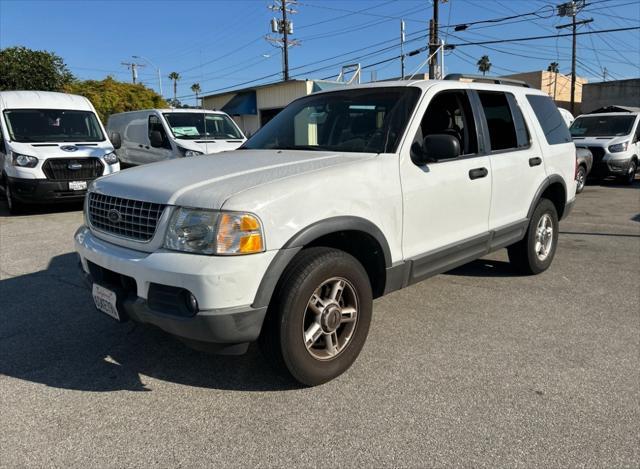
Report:
[{"label": "yellowish-green tree behind the two white vans at left", "polygon": [[67,85],[65,91],[89,98],[105,123],[111,114],[118,112],[167,107],[165,100],[155,91],[141,84],[117,81],[113,77],[99,81],[75,81]]}]

